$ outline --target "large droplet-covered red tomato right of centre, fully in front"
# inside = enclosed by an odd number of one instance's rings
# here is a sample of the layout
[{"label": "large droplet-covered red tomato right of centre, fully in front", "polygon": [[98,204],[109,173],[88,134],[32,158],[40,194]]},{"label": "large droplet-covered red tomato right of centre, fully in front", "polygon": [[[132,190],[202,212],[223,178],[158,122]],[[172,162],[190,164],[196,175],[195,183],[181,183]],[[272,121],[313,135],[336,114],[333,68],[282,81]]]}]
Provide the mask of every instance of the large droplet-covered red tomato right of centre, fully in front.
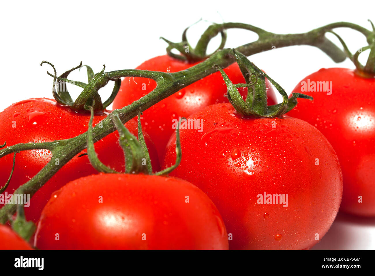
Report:
[{"label": "large droplet-covered red tomato right of centre, fully in front", "polygon": [[[230,104],[190,118],[202,119],[203,131],[180,130],[182,160],[170,175],[207,193],[233,235],[229,249],[300,250],[323,237],[342,196],[338,158],[323,134],[288,116],[246,119]],[[175,135],[164,166],[174,146]],[[264,192],[284,194],[285,202],[288,195],[288,206],[258,204]]]}]

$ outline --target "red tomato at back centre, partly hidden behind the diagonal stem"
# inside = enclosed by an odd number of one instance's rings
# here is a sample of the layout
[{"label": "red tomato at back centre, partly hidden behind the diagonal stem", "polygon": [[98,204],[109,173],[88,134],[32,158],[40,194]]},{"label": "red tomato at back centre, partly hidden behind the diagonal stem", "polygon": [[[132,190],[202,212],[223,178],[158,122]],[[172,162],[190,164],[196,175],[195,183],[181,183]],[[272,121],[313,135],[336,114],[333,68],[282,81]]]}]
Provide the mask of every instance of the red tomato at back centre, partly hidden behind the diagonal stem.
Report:
[{"label": "red tomato at back centre, partly hidden behind the diagonal stem", "polygon": [[[198,63],[182,62],[164,55],[149,59],[136,69],[172,73],[188,69]],[[237,63],[228,66],[224,71],[233,83],[245,82]],[[276,103],[276,95],[270,82],[268,80],[266,82],[269,87],[267,92],[268,104],[272,105]],[[138,77],[124,78],[120,91],[113,102],[113,108],[118,109],[127,106],[151,92],[155,87],[156,82],[154,80]],[[187,117],[211,104],[227,103],[226,90],[222,75],[220,72],[216,72],[184,87],[143,112],[143,127],[155,143],[160,160],[162,160],[169,138],[175,131],[172,129],[172,120],[178,119],[179,116]],[[246,96],[247,89],[240,88],[239,91],[242,96]]]}]

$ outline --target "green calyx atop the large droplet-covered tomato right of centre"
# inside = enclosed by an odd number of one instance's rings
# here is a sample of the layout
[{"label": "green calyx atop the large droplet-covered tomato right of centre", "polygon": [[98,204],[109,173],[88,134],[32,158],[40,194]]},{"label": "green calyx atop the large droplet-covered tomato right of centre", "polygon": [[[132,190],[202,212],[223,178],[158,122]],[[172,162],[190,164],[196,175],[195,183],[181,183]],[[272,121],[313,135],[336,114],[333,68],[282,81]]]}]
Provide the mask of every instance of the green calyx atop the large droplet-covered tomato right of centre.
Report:
[{"label": "green calyx atop the large droplet-covered tomato right of centre", "polygon": [[[301,93],[293,93],[292,97],[288,99],[285,90],[276,83],[276,81],[255,66],[254,63],[248,60],[245,55],[235,49],[233,49],[233,54],[236,57],[236,61],[246,83],[233,84],[228,75],[225,74],[224,70],[219,65],[215,64],[214,67],[217,68],[223,76],[226,87],[228,88],[227,97],[229,102],[242,115],[250,118],[275,118],[293,109],[297,105],[297,98],[313,100],[311,96]],[[282,95],[282,103],[267,106],[266,78],[268,78]],[[238,87],[248,87],[246,101],[243,100],[240,92],[237,90]]]}]

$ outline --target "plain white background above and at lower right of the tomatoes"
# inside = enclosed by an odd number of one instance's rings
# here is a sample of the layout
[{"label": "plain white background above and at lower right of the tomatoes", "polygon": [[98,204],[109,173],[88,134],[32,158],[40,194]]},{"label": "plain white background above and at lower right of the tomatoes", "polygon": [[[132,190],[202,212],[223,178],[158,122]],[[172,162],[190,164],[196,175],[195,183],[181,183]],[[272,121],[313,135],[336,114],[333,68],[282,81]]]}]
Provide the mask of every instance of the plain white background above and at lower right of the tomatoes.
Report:
[{"label": "plain white background above and at lower right of the tomatoes", "polygon": [[[307,32],[317,27],[350,21],[368,29],[375,2],[368,1],[4,1],[1,3],[0,110],[33,97],[52,97],[49,65],[57,74],[80,61],[95,72],[134,68],[144,60],[165,54],[163,36],[180,42],[185,27],[195,45],[210,22],[242,22],[274,33]],[[366,46],[365,38],[353,30],[336,29],[352,52]],[[327,34],[336,44],[338,39]],[[254,41],[257,35],[245,30],[229,30],[226,47]],[[209,50],[219,45],[213,39]],[[365,60],[363,53],[360,60]],[[306,75],[325,67],[354,68],[350,60],[334,63],[326,54],[310,46],[280,48],[255,54],[250,60],[267,72],[287,92]],[[86,81],[86,70],[69,78]],[[102,98],[111,87],[101,90]],[[72,97],[80,89],[69,86]],[[375,249],[375,218],[355,218],[339,214],[330,231],[314,249]]]}]

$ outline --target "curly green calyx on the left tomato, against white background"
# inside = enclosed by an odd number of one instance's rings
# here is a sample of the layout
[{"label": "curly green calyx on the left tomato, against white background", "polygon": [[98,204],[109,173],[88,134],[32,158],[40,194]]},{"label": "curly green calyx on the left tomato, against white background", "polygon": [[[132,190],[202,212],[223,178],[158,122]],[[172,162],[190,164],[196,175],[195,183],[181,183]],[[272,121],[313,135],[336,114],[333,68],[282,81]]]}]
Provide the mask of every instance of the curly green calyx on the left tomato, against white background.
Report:
[{"label": "curly green calyx on the left tomato, against white background", "polygon": [[[118,78],[114,80],[115,84],[110,97],[104,103],[102,103],[98,90],[104,87],[108,83],[108,81],[111,80],[110,78],[103,78],[103,76],[105,75],[105,65],[103,65],[103,69],[101,72],[99,72],[98,74],[94,74],[90,66],[82,65],[81,62],[80,65],[66,71],[65,73],[60,75],[60,77],[57,77],[55,66],[47,61],[43,61],[42,63],[40,63],[40,65],[42,65],[43,63],[51,65],[54,70],[53,75],[47,71],[47,74],[54,78],[52,87],[53,97],[55,98],[57,103],[64,106],[69,106],[72,110],[86,111],[89,109],[89,106],[92,106],[94,111],[102,111],[113,102],[118,93],[118,90],[120,90],[121,79]],[[72,81],[68,79],[68,75],[72,71],[78,68],[82,68],[83,66],[86,66],[87,68],[88,83],[83,83],[81,81]],[[75,101],[72,100],[72,97],[70,96],[66,87],[66,84],[68,83],[83,88],[83,91]]]}]

